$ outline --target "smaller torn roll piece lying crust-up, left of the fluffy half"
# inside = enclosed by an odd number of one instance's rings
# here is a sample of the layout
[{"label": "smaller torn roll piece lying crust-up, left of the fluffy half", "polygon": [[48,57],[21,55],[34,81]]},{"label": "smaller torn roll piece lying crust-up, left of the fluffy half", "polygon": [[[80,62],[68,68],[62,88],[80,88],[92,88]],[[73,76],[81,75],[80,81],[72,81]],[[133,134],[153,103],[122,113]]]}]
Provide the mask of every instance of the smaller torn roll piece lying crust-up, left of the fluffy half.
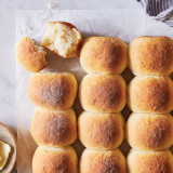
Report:
[{"label": "smaller torn roll piece lying crust-up, left of the fluffy half", "polygon": [[45,54],[43,48],[28,37],[22,38],[15,45],[16,59],[30,72],[38,72],[46,66]]}]

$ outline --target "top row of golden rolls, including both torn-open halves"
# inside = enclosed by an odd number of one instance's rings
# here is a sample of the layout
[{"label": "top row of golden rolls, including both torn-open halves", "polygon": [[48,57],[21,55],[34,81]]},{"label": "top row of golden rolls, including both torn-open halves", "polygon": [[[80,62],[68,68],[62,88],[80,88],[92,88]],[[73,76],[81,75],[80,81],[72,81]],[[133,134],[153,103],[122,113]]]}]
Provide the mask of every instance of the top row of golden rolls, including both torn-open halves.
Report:
[{"label": "top row of golden rolls, including both torn-open halves", "polygon": [[[71,30],[75,34],[74,37]],[[54,32],[59,39],[57,41],[59,48],[55,45],[56,41],[53,41]],[[70,35],[66,35],[66,32]],[[38,72],[48,64],[43,46],[66,58],[78,56],[80,43],[81,34],[72,24],[50,22],[41,41],[42,46],[38,46],[30,38],[24,37],[15,45],[15,56],[26,70]],[[173,71],[172,56],[173,41],[171,38],[138,37],[130,43],[128,64],[135,76],[169,76]],[[114,37],[88,38],[80,51],[80,63],[88,74],[121,74],[127,67],[127,57],[128,45]]]}]

